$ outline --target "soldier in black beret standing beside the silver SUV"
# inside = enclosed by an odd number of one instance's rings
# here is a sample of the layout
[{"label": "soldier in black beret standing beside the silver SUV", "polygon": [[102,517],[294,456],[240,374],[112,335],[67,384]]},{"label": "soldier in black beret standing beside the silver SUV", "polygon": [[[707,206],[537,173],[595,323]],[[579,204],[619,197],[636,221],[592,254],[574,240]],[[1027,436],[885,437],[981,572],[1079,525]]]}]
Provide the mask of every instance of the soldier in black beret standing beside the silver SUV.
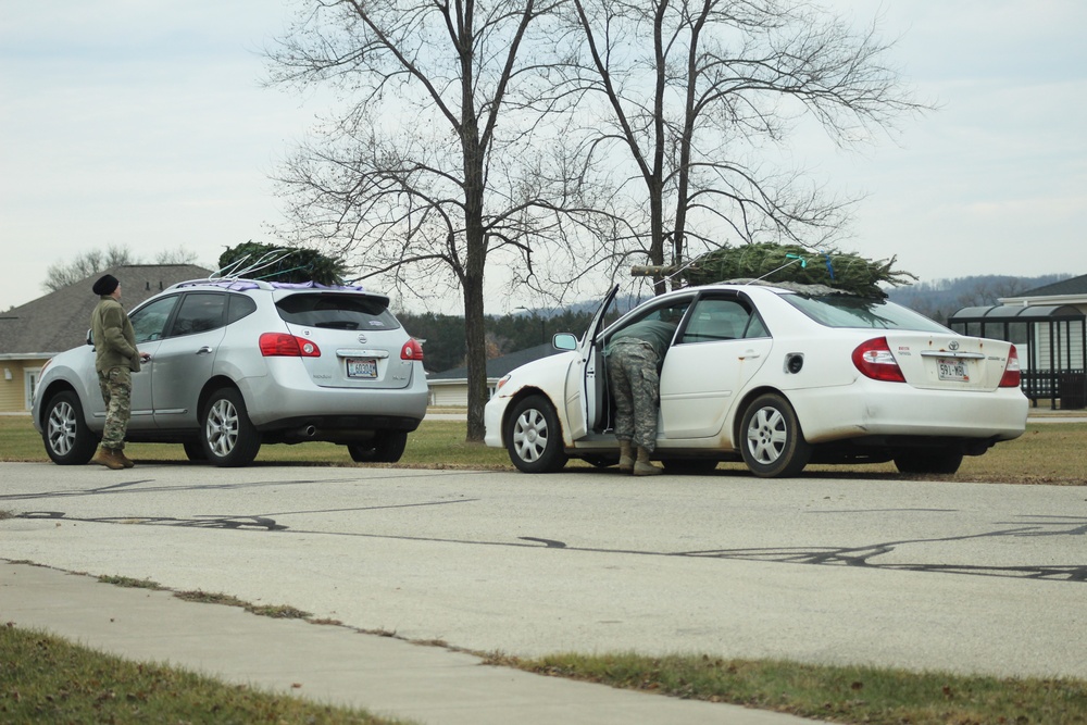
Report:
[{"label": "soldier in black beret standing beside the silver SUV", "polygon": [[95,368],[105,401],[105,429],[102,446],[90,462],[115,471],[130,468],[136,464],[125,455],[124,448],[132,415],[132,374],[138,373],[140,362],[147,362],[150,355],[136,349],[136,333],[128,313],[121,307],[117,278],[104,275],[92,289],[101,298],[90,315],[90,328],[95,338]]}]

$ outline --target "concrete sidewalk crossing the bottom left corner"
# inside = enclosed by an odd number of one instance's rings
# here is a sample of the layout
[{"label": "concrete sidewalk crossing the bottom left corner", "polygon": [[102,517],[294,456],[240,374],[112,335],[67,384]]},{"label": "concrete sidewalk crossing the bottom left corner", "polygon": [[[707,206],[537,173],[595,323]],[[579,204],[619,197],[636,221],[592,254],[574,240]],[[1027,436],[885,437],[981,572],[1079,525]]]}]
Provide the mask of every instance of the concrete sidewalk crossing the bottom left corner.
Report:
[{"label": "concrete sidewalk crossing the bottom left corner", "polygon": [[123,658],[426,725],[789,725],[815,721],[480,664],[472,654],[275,620],[0,560],[0,624]]}]

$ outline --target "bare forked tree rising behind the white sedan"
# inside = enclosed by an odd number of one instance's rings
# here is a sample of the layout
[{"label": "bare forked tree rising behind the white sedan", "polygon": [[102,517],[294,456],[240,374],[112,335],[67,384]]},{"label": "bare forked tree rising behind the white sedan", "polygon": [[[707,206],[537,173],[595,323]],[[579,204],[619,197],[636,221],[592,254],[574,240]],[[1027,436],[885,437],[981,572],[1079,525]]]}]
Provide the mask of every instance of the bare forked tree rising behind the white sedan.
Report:
[{"label": "bare forked tree rising behind the white sedan", "polygon": [[[628,185],[634,227],[610,253],[682,266],[721,237],[833,241],[850,201],[771,163],[798,123],[839,146],[924,110],[885,64],[874,28],[854,35],[799,0],[572,0],[584,35],[567,82],[598,99],[582,150]],[[601,123],[601,120],[608,120]],[[633,163],[623,163],[620,159]],[[640,215],[640,217],[639,217]],[[663,279],[655,278],[658,291]]]}]

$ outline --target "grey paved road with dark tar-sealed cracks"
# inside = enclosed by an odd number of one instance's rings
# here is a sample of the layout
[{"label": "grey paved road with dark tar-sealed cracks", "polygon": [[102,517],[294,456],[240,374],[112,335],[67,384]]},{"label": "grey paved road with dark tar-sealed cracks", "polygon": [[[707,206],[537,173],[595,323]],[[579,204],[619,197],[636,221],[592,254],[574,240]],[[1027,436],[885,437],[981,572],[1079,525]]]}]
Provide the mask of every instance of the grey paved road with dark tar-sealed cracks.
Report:
[{"label": "grey paved road with dark tar-sealed cracks", "polygon": [[1087,489],[0,464],[0,558],[533,655],[1087,677]]}]

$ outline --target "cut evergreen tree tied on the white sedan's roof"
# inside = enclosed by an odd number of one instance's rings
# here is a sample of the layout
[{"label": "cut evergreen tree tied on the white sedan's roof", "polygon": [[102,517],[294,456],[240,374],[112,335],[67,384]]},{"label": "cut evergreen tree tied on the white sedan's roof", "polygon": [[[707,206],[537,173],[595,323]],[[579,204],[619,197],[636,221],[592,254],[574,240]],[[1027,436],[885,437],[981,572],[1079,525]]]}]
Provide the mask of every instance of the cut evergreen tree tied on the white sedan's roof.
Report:
[{"label": "cut evergreen tree tied on the white sedan's roof", "polygon": [[826,285],[861,297],[887,297],[880,284],[916,282],[909,272],[895,268],[897,257],[869,260],[858,254],[821,252],[799,245],[758,242],[723,247],[699,257],[679,271],[687,285],[759,279],[764,283]]}]

